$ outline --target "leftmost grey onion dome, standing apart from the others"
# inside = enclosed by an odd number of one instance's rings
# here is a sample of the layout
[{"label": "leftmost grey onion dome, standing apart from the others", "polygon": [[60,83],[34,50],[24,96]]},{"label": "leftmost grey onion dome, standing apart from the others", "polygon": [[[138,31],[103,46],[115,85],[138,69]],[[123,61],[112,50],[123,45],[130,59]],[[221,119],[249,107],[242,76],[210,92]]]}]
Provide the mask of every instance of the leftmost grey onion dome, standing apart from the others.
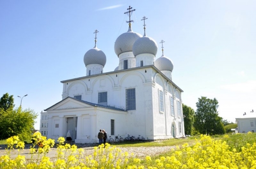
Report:
[{"label": "leftmost grey onion dome, standing apart from the others", "polygon": [[99,50],[97,47],[90,49],[84,54],[85,66],[90,64],[99,64],[105,66],[106,60],[107,59],[104,52]]}]

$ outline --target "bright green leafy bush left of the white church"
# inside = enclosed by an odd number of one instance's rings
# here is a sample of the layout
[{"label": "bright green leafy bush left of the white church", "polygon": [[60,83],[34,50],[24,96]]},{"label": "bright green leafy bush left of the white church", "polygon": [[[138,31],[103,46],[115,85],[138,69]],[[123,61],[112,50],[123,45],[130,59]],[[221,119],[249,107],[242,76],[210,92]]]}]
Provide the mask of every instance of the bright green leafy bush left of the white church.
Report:
[{"label": "bright green leafy bush left of the white church", "polygon": [[14,135],[19,136],[21,140],[31,138],[34,129],[37,114],[30,109],[0,110],[0,139],[6,139]]}]

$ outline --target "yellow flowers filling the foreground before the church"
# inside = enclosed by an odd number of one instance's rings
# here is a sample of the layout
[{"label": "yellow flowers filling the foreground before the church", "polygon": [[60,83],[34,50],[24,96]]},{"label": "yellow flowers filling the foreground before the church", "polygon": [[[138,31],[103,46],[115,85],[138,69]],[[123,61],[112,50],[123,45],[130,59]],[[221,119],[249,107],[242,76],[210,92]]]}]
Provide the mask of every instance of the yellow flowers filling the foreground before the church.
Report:
[{"label": "yellow flowers filling the foreground before the church", "polygon": [[[228,139],[227,135],[225,137]],[[135,158],[110,144],[105,148],[103,144],[94,147],[93,155],[84,156],[83,149],[64,144],[64,138],[59,138],[56,160],[52,162],[47,152],[55,144],[54,140],[47,140],[39,132],[33,135],[33,139],[29,161],[21,155],[11,157],[10,152],[14,148],[23,149],[24,143],[17,136],[8,138],[6,154],[0,157],[0,169],[256,169],[256,143],[248,143],[237,150],[230,148],[226,141],[206,135],[201,135],[194,146],[177,146],[170,150],[171,155],[156,160],[150,156]],[[37,144],[41,145],[37,151],[43,156],[35,153]],[[35,157],[37,160],[32,160]]]}]

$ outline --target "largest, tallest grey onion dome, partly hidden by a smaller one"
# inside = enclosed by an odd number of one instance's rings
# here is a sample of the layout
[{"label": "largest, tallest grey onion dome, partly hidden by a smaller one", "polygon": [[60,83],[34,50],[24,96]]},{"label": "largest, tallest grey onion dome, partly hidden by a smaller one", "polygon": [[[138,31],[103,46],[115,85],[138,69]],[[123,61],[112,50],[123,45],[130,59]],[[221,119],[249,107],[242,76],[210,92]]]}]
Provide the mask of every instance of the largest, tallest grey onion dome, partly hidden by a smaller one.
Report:
[{"label": "largest, tallest grey onion dome, partly hidden by a smaller one", "polygon": [[117,56],[119,54],[122,54],[124,52],[131,52],[134,42],[142,37],[141,34],[135,33],[131,30],[131,27],[129,27],[128,31],[121,34],[115,42],[115,53]]}]

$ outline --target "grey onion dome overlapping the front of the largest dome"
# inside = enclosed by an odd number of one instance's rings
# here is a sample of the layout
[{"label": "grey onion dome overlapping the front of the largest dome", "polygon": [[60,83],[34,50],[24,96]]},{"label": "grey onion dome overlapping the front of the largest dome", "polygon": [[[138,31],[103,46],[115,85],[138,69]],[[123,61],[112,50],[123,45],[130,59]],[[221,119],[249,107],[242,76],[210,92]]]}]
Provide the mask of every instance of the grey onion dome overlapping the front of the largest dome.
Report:
[{"label": "grey onion dome overlapping the front of the largest dome", "polygon": [[144,36],[134,42],[132,51],[134,56],[137,56],[138,54],[153,54],[156,56],[157,43],[151,37]]}]

